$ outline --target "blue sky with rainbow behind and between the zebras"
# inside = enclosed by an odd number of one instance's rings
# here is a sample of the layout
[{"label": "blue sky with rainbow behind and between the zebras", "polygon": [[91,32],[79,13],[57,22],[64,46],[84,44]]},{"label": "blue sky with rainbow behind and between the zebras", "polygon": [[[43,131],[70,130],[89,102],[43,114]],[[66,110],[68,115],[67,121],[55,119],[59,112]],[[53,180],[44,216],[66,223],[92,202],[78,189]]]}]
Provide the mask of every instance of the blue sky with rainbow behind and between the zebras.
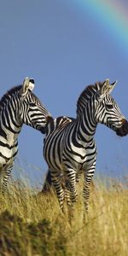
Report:
[{"label": "blue sky with rainbow behind and between the zebras", "polygon": [[[53,117],[75,117],[86,85],[118,80],[113,97],[128,118],[127,16],[128,2],[119,0],[1,1],[0,96],[32,77],[34,93]],[[98,125],[96,144],[96,173],[115,177],[128,173],[128,137],[119,138]],[[43,136],[26,125],[15,163],[20,176],[17,165],[37,185],[43,183],[47,170]]]}]

